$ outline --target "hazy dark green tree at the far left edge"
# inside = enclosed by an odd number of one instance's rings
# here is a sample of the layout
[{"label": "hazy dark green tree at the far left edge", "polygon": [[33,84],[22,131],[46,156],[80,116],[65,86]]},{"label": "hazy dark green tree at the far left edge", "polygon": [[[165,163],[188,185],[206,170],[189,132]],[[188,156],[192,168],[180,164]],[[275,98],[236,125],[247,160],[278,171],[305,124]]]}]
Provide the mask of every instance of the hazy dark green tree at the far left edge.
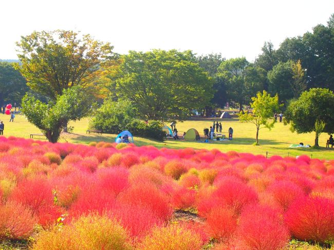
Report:
[{"label": "hazy dark green tree at the far left edge", "polygon": [[27,92],[26,80],[11,63],[0,62],[0,107],[5,102],[21,103]]}]

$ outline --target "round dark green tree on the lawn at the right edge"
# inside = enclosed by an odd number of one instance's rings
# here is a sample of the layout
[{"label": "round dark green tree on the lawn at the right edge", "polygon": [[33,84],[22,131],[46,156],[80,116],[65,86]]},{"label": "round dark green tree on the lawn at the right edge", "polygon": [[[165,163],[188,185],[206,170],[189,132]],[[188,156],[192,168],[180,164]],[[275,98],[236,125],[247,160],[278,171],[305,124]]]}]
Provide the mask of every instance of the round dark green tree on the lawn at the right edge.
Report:
[{"label": "round dark green tree on the lawn at the right edge", "polygon": [[[311,88],[304,91],[298,100],[292,101],[285,112],[285,124],[297,133],[316,131],[316,122],[324,123],[324,132],[334,132],[334,94],[329,89]],[[318,130],[318,129],[317,129]],[[320,131],[320,130],[318,130]],[[318,135],[314,146],[319,146]]]}]

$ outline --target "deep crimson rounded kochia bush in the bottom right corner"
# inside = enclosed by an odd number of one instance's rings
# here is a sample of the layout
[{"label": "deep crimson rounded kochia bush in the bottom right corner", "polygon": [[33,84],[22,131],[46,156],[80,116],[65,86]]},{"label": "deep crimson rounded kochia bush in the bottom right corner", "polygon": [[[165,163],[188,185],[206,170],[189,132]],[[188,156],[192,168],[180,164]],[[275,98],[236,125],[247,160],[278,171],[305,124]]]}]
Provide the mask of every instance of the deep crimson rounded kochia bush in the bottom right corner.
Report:
[{"label": "deep crimson rounded kochia bush in the bottom right corner", "polygon": [[296,200],[285,214],[292,235],[300,240],[334,240],[334,201],[304,197]]}]

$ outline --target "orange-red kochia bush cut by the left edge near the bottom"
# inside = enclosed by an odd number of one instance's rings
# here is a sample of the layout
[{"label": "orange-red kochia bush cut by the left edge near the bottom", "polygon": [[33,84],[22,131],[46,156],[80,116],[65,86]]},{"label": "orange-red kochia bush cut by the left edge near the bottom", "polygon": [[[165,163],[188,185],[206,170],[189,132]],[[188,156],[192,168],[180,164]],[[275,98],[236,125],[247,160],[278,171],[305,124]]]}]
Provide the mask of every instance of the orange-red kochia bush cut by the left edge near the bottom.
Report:
[{"label": "orange-red kochia bush cut by the left edge near the bottom", "polygon": [[35,219],[31,210],[17,202],[0,205],[0,240],[26,239],[32,233]]}]

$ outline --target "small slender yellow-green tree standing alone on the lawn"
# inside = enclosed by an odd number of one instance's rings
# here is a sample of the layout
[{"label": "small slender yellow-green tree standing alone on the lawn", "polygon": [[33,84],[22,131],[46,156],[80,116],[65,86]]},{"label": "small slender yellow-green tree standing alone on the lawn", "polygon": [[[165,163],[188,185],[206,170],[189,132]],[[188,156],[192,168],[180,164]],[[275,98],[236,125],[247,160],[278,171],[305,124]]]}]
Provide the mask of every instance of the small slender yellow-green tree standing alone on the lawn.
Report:
[{"label": "small slender yellow-green tree standing alone on the lawn", "polygon": [[253,112],[243,113],[240,112],[238,117],[240,122],[250,122],[256,126],[256,145],[258,143],[258,131],[261,128],[271,129],[276,122],[274,119],[272,122],[269,121],[272,118],[272,114],[280,108],[279,96],[276,94],[274,97],[270,97],[267,91],[263,90],[263,93],[258,92],[256,97],[252,97],[252,103],[250,103]]}]

